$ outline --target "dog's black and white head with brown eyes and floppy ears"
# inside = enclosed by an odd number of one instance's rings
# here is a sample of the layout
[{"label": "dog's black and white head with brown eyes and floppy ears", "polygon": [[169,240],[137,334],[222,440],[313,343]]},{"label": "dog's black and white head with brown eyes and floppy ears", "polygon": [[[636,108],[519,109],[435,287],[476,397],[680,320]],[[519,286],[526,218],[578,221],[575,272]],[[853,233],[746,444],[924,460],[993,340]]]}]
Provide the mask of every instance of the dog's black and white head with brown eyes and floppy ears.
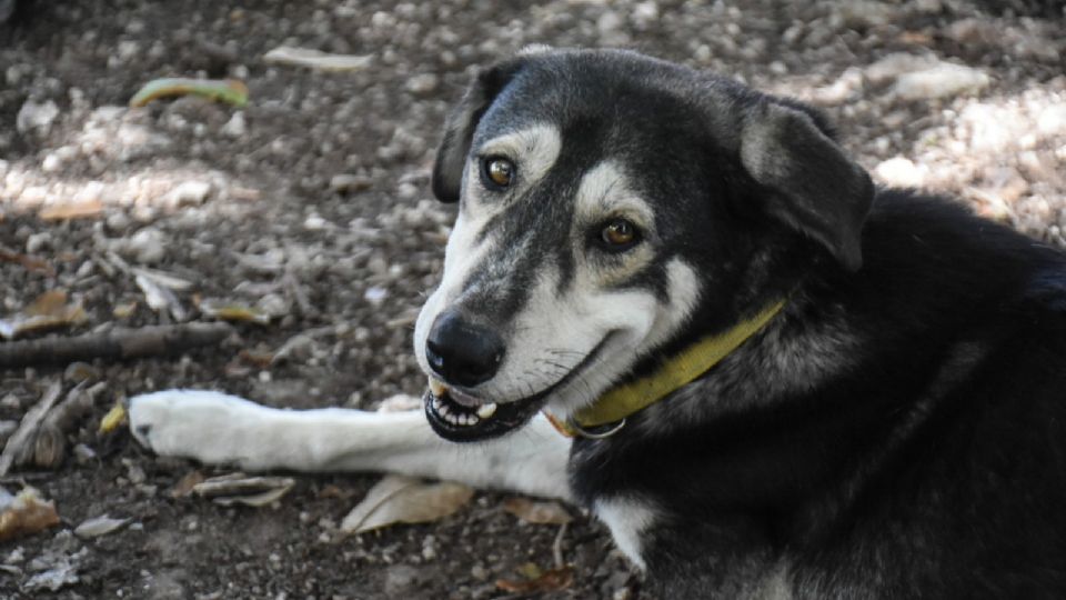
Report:
[{"label": "dog's black and white head with brown eyes and floppy ears", "polygon": [[433,191],[460,211],[414,346],[430,422],[456,441],[573,413],[786,293],[775,270],[859,268],[873,198],[805,107],[632,52],[546,49],[475,78]]}]

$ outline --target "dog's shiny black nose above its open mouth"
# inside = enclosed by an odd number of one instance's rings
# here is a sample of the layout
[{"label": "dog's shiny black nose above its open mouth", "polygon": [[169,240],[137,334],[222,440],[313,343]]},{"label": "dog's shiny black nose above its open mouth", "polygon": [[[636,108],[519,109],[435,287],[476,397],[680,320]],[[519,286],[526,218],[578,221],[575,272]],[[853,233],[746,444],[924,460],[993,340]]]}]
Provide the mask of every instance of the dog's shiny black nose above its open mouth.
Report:
[{"label": "dog's shiny black nose above its open mouth", "polygon": [[425,360],[446,383],[476,386],[496,374],[503,340],[495,331],[446,311],[433,322],[425,340]]}]

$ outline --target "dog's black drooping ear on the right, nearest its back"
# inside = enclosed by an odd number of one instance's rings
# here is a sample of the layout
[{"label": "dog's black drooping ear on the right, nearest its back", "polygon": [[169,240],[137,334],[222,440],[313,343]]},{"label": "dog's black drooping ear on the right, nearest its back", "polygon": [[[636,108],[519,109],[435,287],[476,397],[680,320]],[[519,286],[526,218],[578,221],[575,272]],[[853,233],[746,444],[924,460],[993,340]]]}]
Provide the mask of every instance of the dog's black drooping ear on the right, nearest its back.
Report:
[{"label": "dog's black drooping ear on the right, nearest its back", "polygon": [[744,120],[741,162],[771,190],[771,214],[822,243],[845,269],[862,267],[861,234],[874,184],[811,114],[760,101]]}]

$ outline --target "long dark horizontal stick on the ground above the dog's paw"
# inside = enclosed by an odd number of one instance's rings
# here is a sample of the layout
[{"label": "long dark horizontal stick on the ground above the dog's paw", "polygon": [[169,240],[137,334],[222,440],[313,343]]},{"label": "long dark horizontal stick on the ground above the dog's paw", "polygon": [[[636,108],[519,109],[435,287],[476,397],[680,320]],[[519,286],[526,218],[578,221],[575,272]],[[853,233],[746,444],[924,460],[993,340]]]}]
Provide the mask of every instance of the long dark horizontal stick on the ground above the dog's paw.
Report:
[{"label": "long dark horizontal stick on the ground above the dog's paw", "polygon": [[0,343],[0,369],[31,364],[64,364],[76,360],[125,360],[173,354],[211,346],[233,333],[229,323],[184,323],[140,329],[115,328],[73,338],[50,337]]}]

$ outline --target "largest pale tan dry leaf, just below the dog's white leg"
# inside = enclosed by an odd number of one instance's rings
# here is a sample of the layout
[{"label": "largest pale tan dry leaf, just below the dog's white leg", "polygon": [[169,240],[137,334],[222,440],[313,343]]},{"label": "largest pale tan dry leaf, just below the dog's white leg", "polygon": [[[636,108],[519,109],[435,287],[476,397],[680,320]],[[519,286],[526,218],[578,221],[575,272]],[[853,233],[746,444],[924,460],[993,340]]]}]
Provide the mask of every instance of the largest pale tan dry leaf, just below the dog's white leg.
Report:
[{"label": "largest pale tan dry leaf, just below the dog's white leg", "polygon": [[362,533],[393,523],[428,523],[461,509],[474,490],[451,481],[423,483],[403,476],[385,476],[341,522],[341,531]]}]

